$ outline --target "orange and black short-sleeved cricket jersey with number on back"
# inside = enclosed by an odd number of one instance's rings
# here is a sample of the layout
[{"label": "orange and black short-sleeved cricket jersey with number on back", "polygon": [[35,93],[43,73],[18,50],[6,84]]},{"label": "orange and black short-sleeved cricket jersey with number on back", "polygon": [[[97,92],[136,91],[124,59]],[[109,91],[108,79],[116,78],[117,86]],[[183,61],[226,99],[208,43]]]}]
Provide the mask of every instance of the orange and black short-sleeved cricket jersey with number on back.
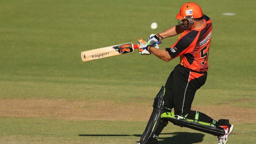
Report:
[{"label": "orange and black short-sleeved cricket jersey with number on back", "polygon": [[206,24],[201,29],[184,31],[171,48],[166,51],[174,59],[180,56],[180,65],[193,71],[208,71],[209,47],[212,35],[212,23],[209,17],[203,15]]}]

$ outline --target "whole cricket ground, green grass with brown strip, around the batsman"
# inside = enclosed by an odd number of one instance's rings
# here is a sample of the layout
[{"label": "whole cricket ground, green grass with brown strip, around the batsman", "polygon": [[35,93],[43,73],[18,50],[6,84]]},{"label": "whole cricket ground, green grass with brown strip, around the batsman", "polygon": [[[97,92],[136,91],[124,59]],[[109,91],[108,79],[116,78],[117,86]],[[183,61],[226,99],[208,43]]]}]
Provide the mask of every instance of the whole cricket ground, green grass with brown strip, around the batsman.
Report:
[{"label": "whole cricket ground, green grass with brown strip, around the batsman", "polygon": [[[83,63],[80,53],[147,40],[177,24],[185,2],[1,0],[0,144],[135,144],[179,59],[166,63],[135,52]],[[193,2],[213,22],[208,78],[193,108],[230,119],[235,129],[228,144],[254,144],[256,1]],[[195,143],[217,138],[171,123],[159,138],[159,144]]]}]

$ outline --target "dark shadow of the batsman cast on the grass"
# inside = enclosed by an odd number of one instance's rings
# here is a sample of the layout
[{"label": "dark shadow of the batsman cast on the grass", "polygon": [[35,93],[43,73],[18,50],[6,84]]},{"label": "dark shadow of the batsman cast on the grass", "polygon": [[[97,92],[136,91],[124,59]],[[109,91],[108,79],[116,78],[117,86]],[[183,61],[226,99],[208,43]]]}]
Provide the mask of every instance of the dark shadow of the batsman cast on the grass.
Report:
[{"label": "dark shadow of the batsman cast on the grass", "polygon": [[[172,137],[161,137],[161,135],[173,135]],[[140,137],[141,135],[79,135],[79,136],[95,136],[95,137],[126,137],[126,136],[135,136]],[[162,133],[159,136],[158,144],[194,144],[202,142],[204,134],[201,133],[192,133],[192,132],[172,132],[172,133]]]}]

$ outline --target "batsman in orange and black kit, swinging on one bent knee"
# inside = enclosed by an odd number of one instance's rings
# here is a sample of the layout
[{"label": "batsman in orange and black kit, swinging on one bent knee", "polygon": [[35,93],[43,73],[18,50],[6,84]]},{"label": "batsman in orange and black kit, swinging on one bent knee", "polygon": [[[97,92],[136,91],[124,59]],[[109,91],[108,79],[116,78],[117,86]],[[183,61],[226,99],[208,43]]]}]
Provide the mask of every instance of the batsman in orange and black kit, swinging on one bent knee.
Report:
[{"label": "batsman in orange and black kit, swinging on one bent knee", "polygon": [[[176,19],[178,25],[150,35],[147,42],[138,40],[140,54],[154,54],[164,61],[180,57],[180,64],[175,66],[154,98],[152,114],[137,144],[156,144],[168,122],[215,135],[218,144],[226,144],[234,127],[229,120],[217,121],[202,112],[191,110],[196,91],[206,82],[212,22],[193,2],[182,5]],[[159,40],[178,34],[178,41],[165,50],[154,45]]]}]

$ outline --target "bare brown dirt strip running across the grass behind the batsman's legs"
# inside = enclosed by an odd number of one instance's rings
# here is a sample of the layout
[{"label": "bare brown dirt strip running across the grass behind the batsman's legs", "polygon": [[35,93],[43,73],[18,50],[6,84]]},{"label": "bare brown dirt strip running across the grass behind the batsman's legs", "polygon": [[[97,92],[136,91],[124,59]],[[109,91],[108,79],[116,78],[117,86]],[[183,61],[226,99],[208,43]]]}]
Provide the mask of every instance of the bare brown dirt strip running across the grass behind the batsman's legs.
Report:
[{"label": "bare brown dirt strip running across the grass behind the batsman's legs", "polygon": [[[256,123],[253,108],[231,106],[193,106],[214,119],[230,119],[232,123]],[[70,120],[147,121],[152,104],[117,104],[115,102],[87,102],[37,99],[0,99],[0,116],[24,118],[58,118]]]}]

